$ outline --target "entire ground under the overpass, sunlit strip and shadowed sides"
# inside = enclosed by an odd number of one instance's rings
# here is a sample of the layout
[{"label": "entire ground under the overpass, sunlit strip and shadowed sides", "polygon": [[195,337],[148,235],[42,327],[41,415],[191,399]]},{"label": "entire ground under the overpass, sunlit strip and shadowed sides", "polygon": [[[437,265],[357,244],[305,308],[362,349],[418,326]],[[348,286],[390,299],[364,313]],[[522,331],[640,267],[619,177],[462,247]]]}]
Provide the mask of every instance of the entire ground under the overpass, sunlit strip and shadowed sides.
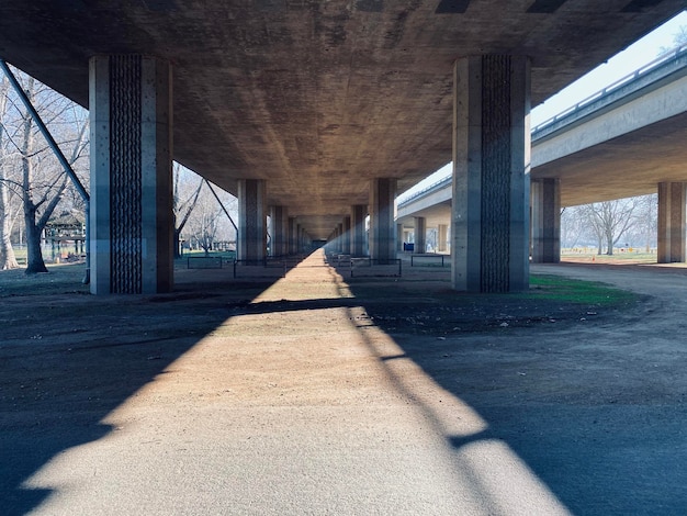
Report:
[{"label": "entire ground under the overpass, sunlit strip and shadowed sides", "polygon": [[684,274],[605,268],[655,298],[520,326],[542,309],[448,274],[345,281],[320,254],[271,285],[188,272],[166,295],[0,298],[26,310],[0,345],[3,514],[687,507]]}]

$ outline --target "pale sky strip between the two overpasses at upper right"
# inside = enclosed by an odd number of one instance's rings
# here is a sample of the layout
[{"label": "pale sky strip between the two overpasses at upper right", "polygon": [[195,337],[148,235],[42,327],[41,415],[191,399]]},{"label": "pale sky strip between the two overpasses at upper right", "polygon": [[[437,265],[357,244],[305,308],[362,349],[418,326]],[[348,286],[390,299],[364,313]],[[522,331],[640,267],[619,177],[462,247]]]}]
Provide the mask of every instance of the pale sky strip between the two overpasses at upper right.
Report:
[{"label": "pale sky strip between the two overpasses at upper right", "polygon": [[[683,11],[675,18],[668,20],[666,23],[646,34],[624,51],[616,54],[605,64],[581,77],[543,103],[534,106],[530,115],[531,126],[534,127],[538,124],[545,122],[547,120],[565,111],[567,108],[575,105],[581,100],[593,96],[607,86],[616,82],[618,79],[622,79],[623,77],[633,74],[644,65],[656,59],[662,48],[669,48],[674,45],[675,35],[679,32],[680,26],[683,25],[687,25],[687,11]],[[403,199],[413,192],[429,187],[433,182],[451,175],[452,170],[452,164],[447,164],[435,173],[418,182],[407,192],[398,195],[398,198]]]}]

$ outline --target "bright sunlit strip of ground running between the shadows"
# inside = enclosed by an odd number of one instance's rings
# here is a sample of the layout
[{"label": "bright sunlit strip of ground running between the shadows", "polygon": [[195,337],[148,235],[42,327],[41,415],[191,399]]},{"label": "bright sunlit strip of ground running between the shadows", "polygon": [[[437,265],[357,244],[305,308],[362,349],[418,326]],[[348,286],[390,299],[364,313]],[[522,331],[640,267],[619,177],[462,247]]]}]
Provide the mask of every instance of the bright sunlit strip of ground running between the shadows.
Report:
[{"label": "bright sunlit strip of ground running between the shadows", "polygon": [[278,282],[29,479],[52,490],[34,514],[567,514],[306,262],[309,290]]}]

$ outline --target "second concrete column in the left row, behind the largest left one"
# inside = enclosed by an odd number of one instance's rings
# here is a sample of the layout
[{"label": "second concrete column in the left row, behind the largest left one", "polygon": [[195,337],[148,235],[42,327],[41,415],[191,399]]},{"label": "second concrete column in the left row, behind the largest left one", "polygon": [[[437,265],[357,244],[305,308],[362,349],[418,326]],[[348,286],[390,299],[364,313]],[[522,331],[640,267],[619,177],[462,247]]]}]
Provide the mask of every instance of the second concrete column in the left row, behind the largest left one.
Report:
[{"label": "second concrete column in the left row, behind the largest left one", "polygon": [[267,255],[267,188],[262,179],[238,180],[238,259]]}]

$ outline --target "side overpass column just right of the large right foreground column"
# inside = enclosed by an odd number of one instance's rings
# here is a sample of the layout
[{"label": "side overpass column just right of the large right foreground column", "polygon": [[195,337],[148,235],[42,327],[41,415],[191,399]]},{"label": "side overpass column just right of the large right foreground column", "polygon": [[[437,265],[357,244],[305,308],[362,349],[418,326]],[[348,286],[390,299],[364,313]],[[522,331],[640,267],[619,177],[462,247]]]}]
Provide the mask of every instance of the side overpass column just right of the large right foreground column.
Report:
[{"label": "side overpass column just right of the large right foreground column", "polygon": [[561,261],[561,182],[555,178],[531,182],[532,262]]}]

